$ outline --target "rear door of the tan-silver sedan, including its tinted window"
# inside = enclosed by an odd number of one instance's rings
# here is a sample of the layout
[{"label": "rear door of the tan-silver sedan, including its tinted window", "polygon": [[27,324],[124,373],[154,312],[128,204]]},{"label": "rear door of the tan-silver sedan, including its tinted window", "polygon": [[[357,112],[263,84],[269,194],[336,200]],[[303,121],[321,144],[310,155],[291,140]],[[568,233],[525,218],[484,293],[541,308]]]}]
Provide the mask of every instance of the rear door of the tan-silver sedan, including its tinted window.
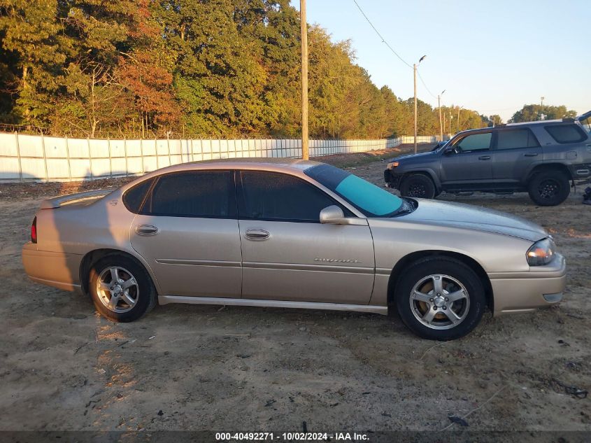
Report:
[{"label": "rear door of the tan-silver sedan, including its tinted window", "polygon": [[161,295],[240,297],[234,171],[157,178],[131,225],[131,246],[152,267]]}]

